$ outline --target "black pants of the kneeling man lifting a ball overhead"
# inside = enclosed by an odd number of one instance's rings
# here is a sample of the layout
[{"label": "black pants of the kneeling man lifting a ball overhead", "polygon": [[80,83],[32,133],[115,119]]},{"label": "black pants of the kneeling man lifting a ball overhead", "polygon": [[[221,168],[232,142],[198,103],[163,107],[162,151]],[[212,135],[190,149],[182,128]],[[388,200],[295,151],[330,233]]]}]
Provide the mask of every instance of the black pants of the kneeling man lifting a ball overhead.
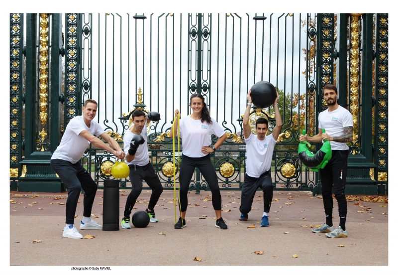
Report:
[{"label": "black pants of the kneeling man lifting a ball overhead", "polygon": [[270,212],[274,192],[272,188],[271,174],[269,171],[266,171],[261,174],[260,177],[251,177],[245,173],[239,207],[239,211],[241,213],[247,214],[250,212],[257,188],[261,188],[263,190],[264,212]]}]

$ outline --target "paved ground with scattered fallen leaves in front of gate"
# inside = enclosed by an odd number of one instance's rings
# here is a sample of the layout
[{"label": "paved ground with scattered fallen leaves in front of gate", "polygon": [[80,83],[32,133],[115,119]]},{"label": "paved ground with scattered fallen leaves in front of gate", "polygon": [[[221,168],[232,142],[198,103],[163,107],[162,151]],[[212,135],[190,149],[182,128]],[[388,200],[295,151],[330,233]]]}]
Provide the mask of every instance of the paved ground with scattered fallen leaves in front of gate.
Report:
[{"label": "paved ground with scattered fallen leaves in front of gate", "polygon": [[[144,210],[150,191],[134,210]],[[239,221],[240,192],[222,191],[228,230],[214,224],[209,192],[189,194],[187,227],[174,229],[173,191],[164,191],[155,207],[159,223],[115,232],[84,231],[93,239],[62,238],[66,194],[10,193],[10,266],[387,266],[388,204],[348,202],[348,238],[329,239],[310,227],[323,223],[320,197],[307,192],[274,192],[270,227],[260,227],[262,193],[248,221]],[[120,216],[128,191],[120,192]],[[93,216],[102,223],[102,196]],[[83,213],[79,199],[75,224]],[[335,209],[337,203],[335,201]],[[336,210],[337,211],[337,210]],[[335,224],[338,213],[334,212]],[[255,228],[247,228],[255,225]],[[77,225],[78,226],[78,225]],[[32,243],[34,241],[41,241]],[[263,251],[263,255],[255,254]],[[371,252],[371,253],[369,253]],[[297,255],[294,258],[293,255]],[[201,262],[194,261],[199,257]]]}]

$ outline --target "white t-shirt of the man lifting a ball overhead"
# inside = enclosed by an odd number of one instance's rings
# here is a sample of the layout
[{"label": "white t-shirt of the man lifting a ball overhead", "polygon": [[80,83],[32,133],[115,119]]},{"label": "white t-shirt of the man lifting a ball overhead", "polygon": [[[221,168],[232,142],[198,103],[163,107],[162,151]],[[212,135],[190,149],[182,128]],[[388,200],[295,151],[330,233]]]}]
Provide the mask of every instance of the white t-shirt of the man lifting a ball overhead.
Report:
[{"label": "white t-shirt of the man lifting a ball overhead", "polygon": [[251,177],[260,177],[271,168],[272,154],[277,141],[271,135],[260,140],[250,133],[246,142],[246,173]]}]

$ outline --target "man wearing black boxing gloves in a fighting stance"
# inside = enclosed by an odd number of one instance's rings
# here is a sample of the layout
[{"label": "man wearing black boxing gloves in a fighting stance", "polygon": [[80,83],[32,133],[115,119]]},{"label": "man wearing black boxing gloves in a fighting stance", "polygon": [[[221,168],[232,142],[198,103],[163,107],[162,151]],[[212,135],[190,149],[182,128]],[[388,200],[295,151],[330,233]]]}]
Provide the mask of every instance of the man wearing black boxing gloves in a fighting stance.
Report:
[{"label": "man wearing black boxing gloves in a fighting stance", "polygon": [[146,124],[160,120],[160,114],[157,112],[149,112],[145,117],[145,113],[141,110],[135,110],[132,115],[133,125],[124,133],[124,152],[126,153],[126,163],[130,168],[130,181],[132,190],[127,197],[126,206],[124,208],[124,217],[121,221],[122,229],[130,229],[130,214],[138,196],[142,191],[142,180],[152,189],[151,198],[149,199],[148,208],[145,210],[149,215],[150,222],[158,222],[155,216],[154,207],[159,200],[160,194],[163,192],[162,184],[156,175],[148,156],[148,145],[144,144],[148,140]]}]

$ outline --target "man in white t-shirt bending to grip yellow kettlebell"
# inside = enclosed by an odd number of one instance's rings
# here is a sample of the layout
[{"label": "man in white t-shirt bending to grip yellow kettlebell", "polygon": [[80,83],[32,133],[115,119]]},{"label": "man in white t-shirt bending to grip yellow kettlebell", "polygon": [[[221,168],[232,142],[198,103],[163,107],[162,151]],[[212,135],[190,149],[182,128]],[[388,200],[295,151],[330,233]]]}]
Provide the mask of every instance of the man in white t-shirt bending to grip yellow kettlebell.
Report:
[{"label": "man in white t-shirt bending to grip yellow kettlebell", "polygon": [[[101,225],[90,218],[97,192],[97,184],[94,182],[90,173],[88,173],[79,162],[87,147],[89,147],[91,143],[98,148],[112,153],[119,159],[124,158],[124,152],[121,150],[116,140],[105,133],[100,124],[94,120],[97,114],[97,107],[97,102],[92,99],[88,99],[84,102],[82,115],[71,119],[66,126],[60,144],[51,156],[51,167],[68,188],[66,221],[62,233],[62,236],[67,238],[83,238],[73,225],[82,188],[84,190],[84,212],[83,219],[80,222],[80,229],[102,229]],[[111,147],[97,137],[106,140]]]}]

